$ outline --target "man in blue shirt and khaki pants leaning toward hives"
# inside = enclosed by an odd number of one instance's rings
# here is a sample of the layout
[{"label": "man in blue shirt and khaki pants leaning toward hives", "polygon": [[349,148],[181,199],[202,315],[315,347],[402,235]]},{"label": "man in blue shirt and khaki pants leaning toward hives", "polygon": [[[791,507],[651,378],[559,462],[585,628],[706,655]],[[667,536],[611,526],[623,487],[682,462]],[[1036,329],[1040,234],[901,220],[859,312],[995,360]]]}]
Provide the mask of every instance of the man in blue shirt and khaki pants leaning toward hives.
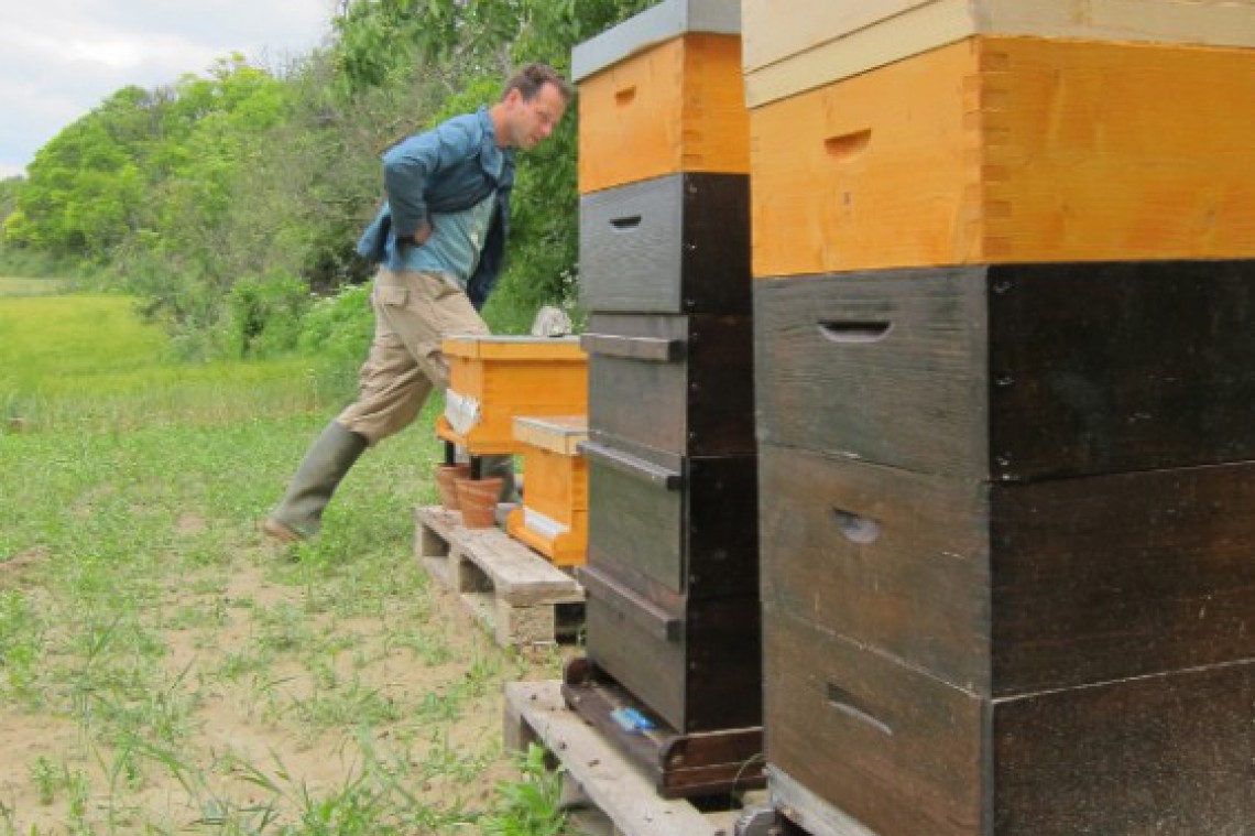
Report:
[{"label": "man in blue shirt and khaki pants leaning toward hives", "polygon": [[[515,151],[547,138],[571,100],[552,68],[530,64],[492,107],[415,134],[383,157],[387,202],[358,242],[379,262],[370,304],[375,335],[358,399],[305,454],[262,528],[284,542],[318,533],[340,480],[368,448],[408,427],[433,388],[448,385],[441,343],[487,334],[479,309],[501,274],[515,182]],[[484,457],[484,474],[506,476],[510,457]]]}]

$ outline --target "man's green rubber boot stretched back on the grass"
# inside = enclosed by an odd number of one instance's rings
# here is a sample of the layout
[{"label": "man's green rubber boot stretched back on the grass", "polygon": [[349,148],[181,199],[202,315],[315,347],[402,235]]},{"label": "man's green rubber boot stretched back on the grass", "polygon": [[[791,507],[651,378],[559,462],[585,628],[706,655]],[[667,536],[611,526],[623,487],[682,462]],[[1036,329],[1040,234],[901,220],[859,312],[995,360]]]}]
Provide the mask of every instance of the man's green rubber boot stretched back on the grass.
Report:
[{"label": "man's green rubber boot stretched back on the grass", "polygon": [[334,421],[329,423],[305,453],[282,502],[270,512],[261,530],[282,542],[316,535],[323,527],[323,510],[365,449],[365,438]]}]

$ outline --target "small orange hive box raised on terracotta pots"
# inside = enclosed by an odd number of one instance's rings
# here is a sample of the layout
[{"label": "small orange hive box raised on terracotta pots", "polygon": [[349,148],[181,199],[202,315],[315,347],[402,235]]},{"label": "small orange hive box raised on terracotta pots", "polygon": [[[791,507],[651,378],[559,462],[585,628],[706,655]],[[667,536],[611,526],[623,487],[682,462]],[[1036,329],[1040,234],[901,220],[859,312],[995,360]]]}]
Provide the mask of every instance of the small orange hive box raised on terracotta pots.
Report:
[{"label": "small orange hive box raised on terracotta pots", "polygon": [[589,410],[589,360],[577,336],[451,336],[444,414],[435,433],[472,456],[518,452],[517,415]]}]

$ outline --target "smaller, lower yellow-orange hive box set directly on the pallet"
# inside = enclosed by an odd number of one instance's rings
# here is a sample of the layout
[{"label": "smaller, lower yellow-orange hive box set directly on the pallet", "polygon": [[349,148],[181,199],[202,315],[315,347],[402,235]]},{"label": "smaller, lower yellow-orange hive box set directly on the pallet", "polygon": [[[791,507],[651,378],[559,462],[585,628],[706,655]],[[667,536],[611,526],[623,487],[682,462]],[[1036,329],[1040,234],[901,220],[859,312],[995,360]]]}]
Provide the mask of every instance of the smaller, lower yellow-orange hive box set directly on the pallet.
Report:
[{"label": "smaller, lower yellow-orange hive box set directly on the pallet", "polygon": [[580,566],[589,551],[589,468],[579,443],[589,437],[586,415],[515,418],[522,444],[523,503],[506,530],[556,566]]}]

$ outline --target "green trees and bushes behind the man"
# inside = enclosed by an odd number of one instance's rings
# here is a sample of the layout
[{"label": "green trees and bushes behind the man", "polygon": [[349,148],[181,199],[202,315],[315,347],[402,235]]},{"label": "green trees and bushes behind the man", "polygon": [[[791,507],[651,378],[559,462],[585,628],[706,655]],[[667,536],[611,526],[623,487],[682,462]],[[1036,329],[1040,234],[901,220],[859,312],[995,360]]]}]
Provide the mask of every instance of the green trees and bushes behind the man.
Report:
[{"label": "green trees and bushes behind the man", "polygon": [[[0,183],[0,249],[74,265],[138,295],[198,354],[292,348],[318,296],[366,279],[354,254],[397,139],[496,100],[517,65],[571,48],[653,0],[343,0],[324,45],[265,65],[127,87]],[[517,330],[570,301],[577,259],[576,113],[520,157],[508,269],[486,310]]]}]

